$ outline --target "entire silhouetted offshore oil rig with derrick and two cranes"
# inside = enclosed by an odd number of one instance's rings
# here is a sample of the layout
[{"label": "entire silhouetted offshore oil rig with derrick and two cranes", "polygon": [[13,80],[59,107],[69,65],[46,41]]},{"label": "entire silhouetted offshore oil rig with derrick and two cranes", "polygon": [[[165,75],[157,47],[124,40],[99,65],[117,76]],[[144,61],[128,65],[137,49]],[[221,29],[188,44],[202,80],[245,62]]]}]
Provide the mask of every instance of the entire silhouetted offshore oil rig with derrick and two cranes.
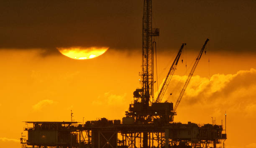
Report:
[{"label": "entire silhouetted offshore oil rig with derrick and two cranes", "polygon": [[177,107],[209,39],[203,44],[173,105],[172,102],[161,101],[186,44],[180,47],[157,97],[154,97],[156,42],[152,38],[156,36],[159,36],[159,28],[152,27],[152,3],[144,0],[141,88],[133,92],[133,103],[125,111],[122,122],[107,118],[86,121],[85,124],[26,122],[24,131],[28,136],[20,138],[22,148],[224,148],[227,136],[222,125],[174,122]]}]

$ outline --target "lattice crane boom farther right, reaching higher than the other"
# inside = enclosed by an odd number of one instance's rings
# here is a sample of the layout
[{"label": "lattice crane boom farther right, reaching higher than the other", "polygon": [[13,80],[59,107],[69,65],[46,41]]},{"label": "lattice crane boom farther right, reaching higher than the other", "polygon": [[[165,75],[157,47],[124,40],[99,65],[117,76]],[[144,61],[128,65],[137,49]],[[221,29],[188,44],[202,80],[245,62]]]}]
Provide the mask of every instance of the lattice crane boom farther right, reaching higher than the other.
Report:
[{"label": "lattice crane boom farther right, reaching higher than the other", "polygon": [[174,106],[174,111],[176,111],[177,107],[179,106],[179,103],[180,103],[180,101],[181,101],[181,99],[182,99],[182,96],[184,95],[184,92],[185,92],[185,90],[187,89],[187,86],[188,86],[188,84],[189,84],[189,81],[190,81],[190,79],[192,78],[192,76],[193,76],[193,74],[194,74],[194,72],[195,72],[195,69],[197,68],[197,64],[198,64],[199,60],[200,60],[201,57],[202,57],[202,53],[204,52],[205,46],[206,46],[206,44],[207,44],[208,41],[209,41],[209,39],[206,39],[205,44],[202,46],[202,49],[201,49],[201,51],[199,52],[199,54],[198,54],[198,56],[197,56],[197,59],[196,59],[196,61],[195,61],[195,64],[193,65],[193,67],[192,67],[192,69],[191,69],[191,72],[189,73],[189,76],[187,77],[187,81],[185,82],[185,84],[184,84],[184,86],[183,86],[183,88],[182,88],[182,91],[181,91],[181,93],[179,94],[179,97],[178,97],[178,99],[177,99],[177,101],[176,101],[176,104],[175,104],[175,106]]}]

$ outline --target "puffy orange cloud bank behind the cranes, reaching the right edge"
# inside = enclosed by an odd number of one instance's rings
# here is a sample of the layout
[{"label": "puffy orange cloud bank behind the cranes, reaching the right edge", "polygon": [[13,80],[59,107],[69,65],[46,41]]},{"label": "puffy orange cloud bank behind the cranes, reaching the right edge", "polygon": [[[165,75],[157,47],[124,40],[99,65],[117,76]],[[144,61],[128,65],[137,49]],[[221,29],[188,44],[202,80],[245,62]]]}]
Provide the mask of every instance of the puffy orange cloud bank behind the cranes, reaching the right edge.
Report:
[{"label": "puffy orange cloud bank behind the cranes, reaching the right edge", "polygon": [[[186,81],[187,76],[173,76],[172,84],[182,84],[180,89],[172,86],[167,91],[172,96],[167,98],[168,101],[175,102],[179,96],[181,88]],[[214,74],[210,81],[205,77],[193,76],[180,106],[217,106],[218,108],[240,110],[246,116],[253,116],[256,111],[256,69],[241,70],[236,74]]]}]

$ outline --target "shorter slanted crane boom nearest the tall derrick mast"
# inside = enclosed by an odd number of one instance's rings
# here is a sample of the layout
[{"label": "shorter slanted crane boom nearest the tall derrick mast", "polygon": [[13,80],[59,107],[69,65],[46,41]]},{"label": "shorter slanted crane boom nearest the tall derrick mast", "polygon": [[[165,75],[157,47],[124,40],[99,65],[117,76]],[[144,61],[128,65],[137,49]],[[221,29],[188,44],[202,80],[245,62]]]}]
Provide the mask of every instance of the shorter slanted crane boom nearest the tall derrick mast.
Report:
[{"label": "shorter slanted crane boom nearest the tall derrick mast", "polygon": [[165,93],[165,91],[166,91],[166,89],[167,89],[167,87],[168,87],[168,85],[169,85],[169,83],[170,83],[170,81],[172,79],[172,76],[174,74],[174,71],[176,70],[177,64],[179,62],[179,57],[182,54],[182,49],[183,49],[184,45],[186,45],[186,43],[182,44],[182,46],[179,49],[179,52],[178,52],[177,56],[175,57],[175,59],[174,59],[174,61],[172,63],[172,66],[171,66],[171,68],[170,68],[170,70],[169,70],[169,72],[168,72],[168,74],[167,74],[167,76],[166,76],[166,78],[164,80],[164,83],[163,83],[163,85],[162,85],[162,87],[160,89],[160,92],[159,92],[159,94],[158,94],[158,96],[156,98],[156,102],[161,102],[161,100],[162,100],[162,98],[164,96],[164,93]]}]

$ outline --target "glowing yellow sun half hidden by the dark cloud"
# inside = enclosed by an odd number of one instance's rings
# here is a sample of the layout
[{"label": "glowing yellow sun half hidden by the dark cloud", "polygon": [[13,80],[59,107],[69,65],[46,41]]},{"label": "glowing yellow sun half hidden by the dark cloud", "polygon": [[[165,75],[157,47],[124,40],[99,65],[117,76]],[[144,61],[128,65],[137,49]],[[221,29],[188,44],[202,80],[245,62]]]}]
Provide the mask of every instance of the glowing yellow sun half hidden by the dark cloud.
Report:
[{"label": "glowing yellow sun half hidden by the dark cloud", "polygon": [[72,59],[92,59],[104,54],[109,47],[57,47],[57,49],[61,54]]}]

